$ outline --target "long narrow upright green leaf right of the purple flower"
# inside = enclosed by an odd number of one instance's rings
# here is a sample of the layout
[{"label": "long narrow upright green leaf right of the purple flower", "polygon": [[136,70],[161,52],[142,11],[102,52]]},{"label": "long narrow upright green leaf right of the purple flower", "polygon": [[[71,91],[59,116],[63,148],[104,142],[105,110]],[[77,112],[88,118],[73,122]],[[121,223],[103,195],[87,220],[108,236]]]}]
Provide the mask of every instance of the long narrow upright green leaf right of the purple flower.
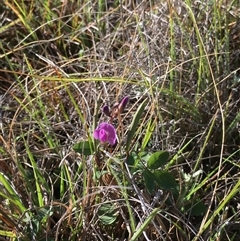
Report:
[{"label": "long narrow upright green leaf right of the purple flower", "polygon": [[136,130],[137,130],[137,127],[138,127],[138,124],[139,124],[139,121],[140,121],[140,118],[141,118],[141,115],[144,111],[144,108],[147,104],[147,99],[145,99],[141,105],[138,107],[134,117],[133,117],[133,120],[132,120],[132,123],[131,123],[131,126],[130,126],[130,129],[129,129],[129,132],[128,132],[128,135],[127,135],[127,142],[126,142],[126,151],[128,152],[129,149],[130,149],[130,146],[131,146],[131,143],[132,143],[132,139],[133,139],[133,136],[135,135],[136,133]]}]

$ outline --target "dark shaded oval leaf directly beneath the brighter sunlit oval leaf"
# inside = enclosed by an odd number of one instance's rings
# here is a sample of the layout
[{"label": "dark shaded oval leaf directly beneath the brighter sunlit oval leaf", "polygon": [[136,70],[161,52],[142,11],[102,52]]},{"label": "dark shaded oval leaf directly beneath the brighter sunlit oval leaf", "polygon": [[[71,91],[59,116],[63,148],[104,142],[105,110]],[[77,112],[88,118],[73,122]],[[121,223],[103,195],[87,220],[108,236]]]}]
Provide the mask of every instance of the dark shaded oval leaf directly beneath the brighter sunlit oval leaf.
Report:
[{"label": "dark shaded oval leaf directly beneath the brighter sunlit oval leaf", "polygon": [[165,190],[175,190],[177,188],[177,182],[174,176],[167,171],[156,170],[153,173],[155,182],[158,186]]}]

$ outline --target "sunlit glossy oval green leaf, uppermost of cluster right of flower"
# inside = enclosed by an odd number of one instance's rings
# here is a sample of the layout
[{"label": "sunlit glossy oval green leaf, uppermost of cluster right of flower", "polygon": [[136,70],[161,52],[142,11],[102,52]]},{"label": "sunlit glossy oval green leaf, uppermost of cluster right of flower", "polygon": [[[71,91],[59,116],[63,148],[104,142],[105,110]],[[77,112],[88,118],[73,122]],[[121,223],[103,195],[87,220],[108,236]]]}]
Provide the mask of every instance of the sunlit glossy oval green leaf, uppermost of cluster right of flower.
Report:
[{"label": "sunlit glossy oval green leaf, uppermost of cluster right of flower", "polygon": [[158,151],[151,155],[147,162],[149,169],[155,170],[164,166],[168,162],[169,153],[167,151]]}]

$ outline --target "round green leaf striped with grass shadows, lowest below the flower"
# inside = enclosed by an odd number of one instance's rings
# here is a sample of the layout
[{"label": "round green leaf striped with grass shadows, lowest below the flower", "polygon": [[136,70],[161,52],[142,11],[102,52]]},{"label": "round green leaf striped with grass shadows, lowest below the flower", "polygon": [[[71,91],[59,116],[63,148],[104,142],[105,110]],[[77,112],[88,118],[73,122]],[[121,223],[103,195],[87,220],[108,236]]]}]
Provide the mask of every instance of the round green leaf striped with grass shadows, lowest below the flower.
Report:
[{"label": "round green leaf striped with grass shadows, lowest below the flower", "polygon": [[103,204],[98,209],[98,218],[104,225],[113,224],[118,217],[118,211],[116,211],[115,207],[110,204]]}]

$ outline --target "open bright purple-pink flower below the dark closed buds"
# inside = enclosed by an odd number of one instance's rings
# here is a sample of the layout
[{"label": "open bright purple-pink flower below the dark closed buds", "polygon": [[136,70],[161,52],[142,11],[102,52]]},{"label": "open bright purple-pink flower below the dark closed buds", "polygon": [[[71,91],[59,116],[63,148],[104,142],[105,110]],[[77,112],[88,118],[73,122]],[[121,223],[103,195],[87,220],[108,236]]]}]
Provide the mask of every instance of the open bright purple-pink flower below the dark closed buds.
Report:
[{"label": "open bright purple-pink flower below the dark closed buds", "polygon": [[113,125],[102,122],[93,132],[93,137],[102,143],[109,143],[114,145],[117,142],[117,134]]}]

